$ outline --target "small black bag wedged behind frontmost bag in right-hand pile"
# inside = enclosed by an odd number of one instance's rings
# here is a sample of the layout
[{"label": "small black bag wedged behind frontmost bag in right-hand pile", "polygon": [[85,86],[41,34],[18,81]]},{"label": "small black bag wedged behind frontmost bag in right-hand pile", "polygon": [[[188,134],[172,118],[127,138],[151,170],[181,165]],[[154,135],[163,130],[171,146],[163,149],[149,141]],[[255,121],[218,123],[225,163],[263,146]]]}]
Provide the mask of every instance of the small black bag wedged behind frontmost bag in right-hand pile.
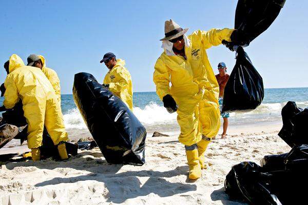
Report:
[{"label": "small black bag wedged behind frontmost bag in right-hand pile", "polygon": [[288,153],[276,154],[276,155],[266,155],[260,160],[260,165],[263,171],[278,171],[284,170],[284,161]]}]

